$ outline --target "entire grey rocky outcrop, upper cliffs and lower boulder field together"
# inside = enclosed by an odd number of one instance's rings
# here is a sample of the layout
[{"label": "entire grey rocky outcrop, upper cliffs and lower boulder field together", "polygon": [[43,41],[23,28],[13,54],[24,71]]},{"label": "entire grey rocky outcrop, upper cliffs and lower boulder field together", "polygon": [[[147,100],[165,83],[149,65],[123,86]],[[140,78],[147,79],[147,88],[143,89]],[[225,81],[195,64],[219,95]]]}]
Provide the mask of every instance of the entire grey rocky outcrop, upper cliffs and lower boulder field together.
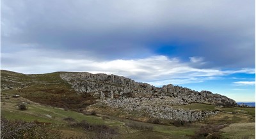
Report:
[{"label": "entire grey rocky outcrop, upper cliffs and lower boulder field together", "polygon": [[60,77],[72,85],[77,92],[99,98],[99,103],[111,108],[122,108],[126,112],[138,112],[141,115],[146,113],[148,117],[157,119],[189,122],[199,121],[218,113],[218,111],[185,110],[177,107],[189,103],[237,105],[233,99],[209,91],[192,91],[172,84],[154,87],[116,75],[61,73]]}]

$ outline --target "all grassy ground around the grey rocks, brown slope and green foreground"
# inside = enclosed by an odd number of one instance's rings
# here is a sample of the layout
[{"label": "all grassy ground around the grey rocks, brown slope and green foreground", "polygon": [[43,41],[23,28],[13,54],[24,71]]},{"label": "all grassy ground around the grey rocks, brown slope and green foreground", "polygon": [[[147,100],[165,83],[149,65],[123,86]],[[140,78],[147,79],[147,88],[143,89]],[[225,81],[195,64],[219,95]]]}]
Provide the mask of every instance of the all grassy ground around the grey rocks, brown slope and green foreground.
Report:
[{"label": "all grassy ground around the grey rocks, brown slope and green foreground", "polygon": [[[13,95],[20,95],[13,98]],[[103,106],[96,98],[77,94],[60,72],[24,75],[1,70],[1,119],[43,124],[63,138],[255,138],[255,108],[202,103],[173,106],[218,111],[198,122],[167,121]],[[19,110],[25,103],[28,110]],[[83,110],[90,113],[83,113]],[[131,120],[133,119],[133,121]],[[141,122],[143,121],[143,122]]]}]

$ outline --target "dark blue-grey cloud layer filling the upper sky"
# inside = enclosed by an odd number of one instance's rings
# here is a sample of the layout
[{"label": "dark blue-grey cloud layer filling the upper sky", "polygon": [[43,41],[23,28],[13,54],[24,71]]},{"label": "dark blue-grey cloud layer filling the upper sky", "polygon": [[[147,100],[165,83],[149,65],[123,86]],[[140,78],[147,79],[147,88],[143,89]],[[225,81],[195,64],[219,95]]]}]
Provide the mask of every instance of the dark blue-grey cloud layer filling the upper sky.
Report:
[{"label": "dark blue-grey cloud layer filling the upper sky", "polygon": [[255,2],[2,2],[2,52],[28,48],[92,59],[204,57],[205,68],[255,67]]}]

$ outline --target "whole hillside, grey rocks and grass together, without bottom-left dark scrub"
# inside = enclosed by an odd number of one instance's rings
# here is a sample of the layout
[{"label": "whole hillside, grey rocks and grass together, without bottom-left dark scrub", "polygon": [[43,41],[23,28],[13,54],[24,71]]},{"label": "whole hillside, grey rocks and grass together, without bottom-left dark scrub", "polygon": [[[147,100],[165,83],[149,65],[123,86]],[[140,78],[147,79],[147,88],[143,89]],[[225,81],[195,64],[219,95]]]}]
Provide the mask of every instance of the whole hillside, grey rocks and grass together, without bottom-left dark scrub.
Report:
[{"label": "whole hillside, grey rocks and grass together, without bottom-left dark scrub", "polygon": [[[19,110],[19,103],[27,103],[28,110]],[[209,91],[171,84],[154,87],[116,75],[1,70],[1,117],[51,123],[46,127],[67,138],[101,135],[98,130],[70,127],[90,122],[117,129],[113,138],[255,138],[255,108],[236,106],[234,100]],[[244,123],[250,124],[250,131],[240,130]]]}]

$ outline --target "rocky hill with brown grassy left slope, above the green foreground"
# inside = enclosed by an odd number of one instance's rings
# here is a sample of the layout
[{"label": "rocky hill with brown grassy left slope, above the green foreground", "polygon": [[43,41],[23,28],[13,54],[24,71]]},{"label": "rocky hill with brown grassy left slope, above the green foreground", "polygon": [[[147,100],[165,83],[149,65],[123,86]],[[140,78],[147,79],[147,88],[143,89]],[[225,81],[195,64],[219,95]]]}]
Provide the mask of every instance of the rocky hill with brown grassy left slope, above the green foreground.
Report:
[{"label": "rocky hill with brown grassy left slope, above the green foreground", "polygon": [[[154,87],[116,75],[56,72],[24,75],[1,71],[1,90],[31,101],[79,112],[115,109],[118,117],[145,117],[174,121],[198,121],[217,111],[190,110],[177,106],[191,103],[236,106],[236,101],[209,91],[174,86]],[[144,119],[144,121],[145,121]]]}]

